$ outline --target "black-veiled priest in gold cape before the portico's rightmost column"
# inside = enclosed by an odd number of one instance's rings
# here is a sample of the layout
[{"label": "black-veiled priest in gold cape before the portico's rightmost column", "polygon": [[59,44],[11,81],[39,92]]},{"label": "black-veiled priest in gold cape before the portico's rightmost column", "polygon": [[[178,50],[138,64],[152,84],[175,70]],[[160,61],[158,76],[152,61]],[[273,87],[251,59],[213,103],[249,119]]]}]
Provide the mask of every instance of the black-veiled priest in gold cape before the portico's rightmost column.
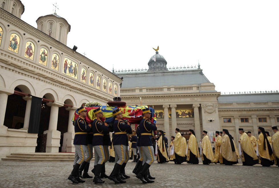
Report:
[{"label": "black-veiled priest in gold cape before the portico's rightmost column", "polygon": [[190,138],[188,140],[187,163],[199,164],[199,147],[194,130],[190,129],[189,134]]}]

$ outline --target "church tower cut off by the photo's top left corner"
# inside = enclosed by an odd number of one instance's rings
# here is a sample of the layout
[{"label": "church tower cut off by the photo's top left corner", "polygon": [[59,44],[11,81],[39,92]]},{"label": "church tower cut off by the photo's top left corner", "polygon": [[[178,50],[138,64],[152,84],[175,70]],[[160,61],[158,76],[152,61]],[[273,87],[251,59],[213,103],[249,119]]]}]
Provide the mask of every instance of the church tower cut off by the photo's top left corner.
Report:
[{"label": "church tower cut off by the photo's top left corner", "polygon": [[24,13],[24,5],[19,0],[0,0],[0,7],[19,19]]}]

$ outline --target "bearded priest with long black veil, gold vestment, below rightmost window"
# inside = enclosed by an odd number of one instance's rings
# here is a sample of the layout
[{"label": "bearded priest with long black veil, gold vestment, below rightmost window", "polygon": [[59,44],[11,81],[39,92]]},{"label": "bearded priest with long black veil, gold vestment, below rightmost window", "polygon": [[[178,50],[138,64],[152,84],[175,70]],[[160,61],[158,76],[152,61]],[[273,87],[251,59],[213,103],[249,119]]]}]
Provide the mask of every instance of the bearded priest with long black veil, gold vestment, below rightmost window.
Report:
[{"label": "bearded priest with long black veil, gold vestment, below rightmost window", "polygon": [[258,128],[258,152],[259,156],[261,158],[260,164],[262,166],[270,166],[272,165],[271,161],[271,155],[272,155],[272,149],[268,142],[268,139],[265,134],[265,130],[263,127]]}]

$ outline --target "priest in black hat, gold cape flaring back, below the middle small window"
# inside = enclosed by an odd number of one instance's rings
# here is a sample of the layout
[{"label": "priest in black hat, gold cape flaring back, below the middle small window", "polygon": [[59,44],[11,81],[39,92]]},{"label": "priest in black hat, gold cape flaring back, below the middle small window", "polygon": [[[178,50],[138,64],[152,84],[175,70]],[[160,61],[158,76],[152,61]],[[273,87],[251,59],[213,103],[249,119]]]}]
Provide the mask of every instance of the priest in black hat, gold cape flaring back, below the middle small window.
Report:
[{"label": "priest in black hat, gold cape flaring back, below the middle small window", "polygon": [[238,129],[240,136],[240,140],[238,142],[240,143],[241,147],[241,161],[243,165],[252,166],[258,163],[258,157],[256,155],[256,152],[254,150],[254,147],[252,146],[251,140],[249,136],[244,132],[243,128]]}]

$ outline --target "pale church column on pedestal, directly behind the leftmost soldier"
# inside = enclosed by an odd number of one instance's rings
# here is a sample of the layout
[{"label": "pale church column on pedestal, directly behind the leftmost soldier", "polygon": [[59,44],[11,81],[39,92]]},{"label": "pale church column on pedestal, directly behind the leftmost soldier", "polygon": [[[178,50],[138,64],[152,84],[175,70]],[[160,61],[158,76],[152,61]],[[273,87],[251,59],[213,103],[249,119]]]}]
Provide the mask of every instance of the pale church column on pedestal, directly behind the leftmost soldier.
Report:
[{"label": "pale church column on pedestal, directly behind the leftmost soldier", "polygon": [[75,152],[74,148],[74,125],[72,122],[72,118],[75,112],[73,108],[67,108],[66,110],[69,111],[69,120],[68,120],[68,131],[64,133],[63,136],[63,145],[62,145],[62,152]]}]

